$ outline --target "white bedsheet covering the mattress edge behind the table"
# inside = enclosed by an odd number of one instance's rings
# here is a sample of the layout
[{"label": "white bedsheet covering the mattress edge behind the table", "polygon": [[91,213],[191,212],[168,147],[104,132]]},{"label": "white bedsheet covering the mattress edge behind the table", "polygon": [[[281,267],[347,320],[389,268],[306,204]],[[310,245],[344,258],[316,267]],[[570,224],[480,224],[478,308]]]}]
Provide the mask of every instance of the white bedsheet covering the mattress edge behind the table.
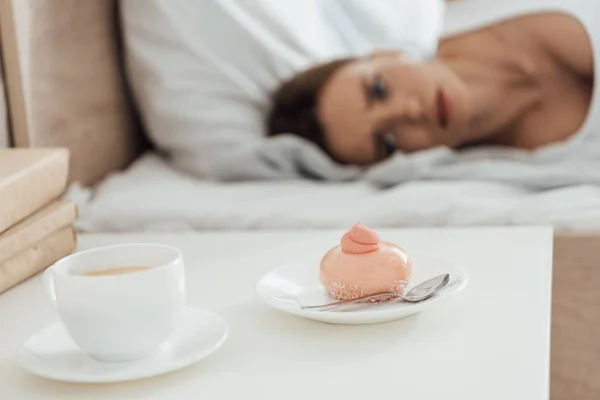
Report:
[{"label": "white bedsheet covering the mattress edge behind the table", "polygon": [[426,180],[199,181],[149,154],[94,191],[77,186],[80,231],[546,225],[600,228],[600,186],[535,191],[509,183]]}]

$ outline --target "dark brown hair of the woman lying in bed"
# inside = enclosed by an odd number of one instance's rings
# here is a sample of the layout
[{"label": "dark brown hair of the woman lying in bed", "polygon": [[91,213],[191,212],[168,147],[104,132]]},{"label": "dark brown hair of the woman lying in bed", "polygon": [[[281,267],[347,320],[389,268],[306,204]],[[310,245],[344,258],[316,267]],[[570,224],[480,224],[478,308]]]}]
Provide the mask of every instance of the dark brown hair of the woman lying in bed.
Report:
[{"label": "dark brown hair of the woman lying in bed", "polygon": [[317,144],[331,154],[317,116],[317,103],[323,87],[333,74],[353,60],[343,58],[319,64],[283,82],[271,98],[267,135],[291,133]]}]

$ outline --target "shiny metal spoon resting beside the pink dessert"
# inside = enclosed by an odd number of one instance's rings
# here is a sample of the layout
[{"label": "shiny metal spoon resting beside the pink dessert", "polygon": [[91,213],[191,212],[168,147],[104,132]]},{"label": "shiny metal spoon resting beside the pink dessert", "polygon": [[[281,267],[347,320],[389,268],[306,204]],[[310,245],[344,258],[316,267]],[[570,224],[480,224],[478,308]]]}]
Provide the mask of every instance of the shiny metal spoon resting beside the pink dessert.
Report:
[{"label": "shiny metal spoon resting beside the pink dessert", "polygon": [[301,306],[303,310],[312,310],[312,311],[329,311],[334,308],[344,307],[350,304],[360,303],[367,300],[377,299],[380,297],[394,297],[400,298],[404,301],[408,301],[410,303],[418,303],[423,300],[427,300],[432,297],[434,294],[440,291],[444,286],[446,286],[450,282],[450,274],[442,274],[438,275],[434,278],[428,279],[423,283],[412,288],[405,295],[399,295],[395,292],[381,292],[374,293],[367,296],[357,297],[355,299],[350,300],[341,300],[328,304],[321,304],[318,306]]}]

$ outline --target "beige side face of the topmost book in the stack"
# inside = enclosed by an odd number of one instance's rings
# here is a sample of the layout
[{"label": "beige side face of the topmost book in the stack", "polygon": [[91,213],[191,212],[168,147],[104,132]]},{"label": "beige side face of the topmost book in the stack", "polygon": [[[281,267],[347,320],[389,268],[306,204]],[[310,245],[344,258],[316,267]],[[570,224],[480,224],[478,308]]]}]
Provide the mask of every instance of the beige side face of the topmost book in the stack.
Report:
[{"label": "beige side face of the topmost book in the stack", "polygon": [[57,199],[65,191],[68,174],[68,152],[57,151],[0,187],[0,233]]}]

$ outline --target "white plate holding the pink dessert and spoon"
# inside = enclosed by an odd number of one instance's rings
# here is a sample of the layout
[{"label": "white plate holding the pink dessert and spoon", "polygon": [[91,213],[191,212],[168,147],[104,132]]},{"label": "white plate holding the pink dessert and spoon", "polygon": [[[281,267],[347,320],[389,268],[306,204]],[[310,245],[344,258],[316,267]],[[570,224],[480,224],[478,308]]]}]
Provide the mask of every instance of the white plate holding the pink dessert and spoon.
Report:
[{"label": "white plate holding the pink dessert and spoon", "polygon": [[372,324],[421,312],[461,291],[467,284],[466,271],[447,260],[414,254],[412,258],[411,287],[436,275],[450,274],[450,282],[444,289],[420,303],[397,300],[380,304],[356,304],[332,311],[303,310],[301,306],[333,301],[319,280],[319,266],[307,264],[276,268],[257,282],[255,290],[266,304],[289,314],[334,324]]}]

